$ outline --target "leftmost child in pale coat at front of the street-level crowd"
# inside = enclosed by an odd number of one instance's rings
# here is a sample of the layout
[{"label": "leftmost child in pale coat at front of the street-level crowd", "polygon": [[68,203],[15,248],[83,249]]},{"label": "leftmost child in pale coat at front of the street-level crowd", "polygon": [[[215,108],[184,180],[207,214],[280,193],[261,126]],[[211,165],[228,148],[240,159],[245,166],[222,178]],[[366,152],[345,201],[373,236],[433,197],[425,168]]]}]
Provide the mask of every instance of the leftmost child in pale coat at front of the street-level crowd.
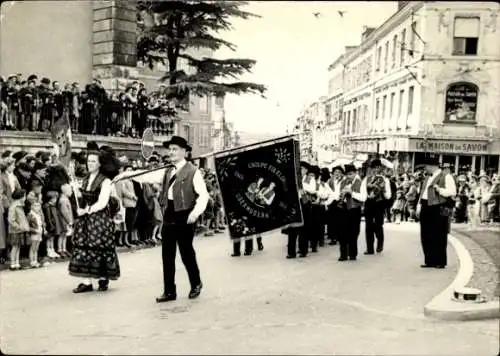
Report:
[{"label": "leftmost child in pale coat at front of the street-level crowd", "polygon": [[12,204],[9,207],[8,226],[9,226],[9,242],[11,245],[10,251],[10,269],[18,270],[21,268],[19,262],[19,253],[21,246],[26,243],[26,234],[30,231],[28,219],[24,211],[24,203],[26,200],[26,191],[24,189],[16,189],[12,193]]}]

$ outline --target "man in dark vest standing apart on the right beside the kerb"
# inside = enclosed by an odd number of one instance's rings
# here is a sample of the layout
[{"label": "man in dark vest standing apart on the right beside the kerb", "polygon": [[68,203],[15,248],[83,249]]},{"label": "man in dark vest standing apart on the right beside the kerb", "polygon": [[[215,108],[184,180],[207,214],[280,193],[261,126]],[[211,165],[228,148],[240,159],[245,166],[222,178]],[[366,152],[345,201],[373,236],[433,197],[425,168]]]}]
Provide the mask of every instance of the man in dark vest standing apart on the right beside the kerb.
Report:
[{"label": "man in dark vest standing apart on the right beside the kerb", "polygon": [[422,185],[417,212],[420,216],[420,240],[424,252],[422,268],[445,268],[448,222],[457,194],[451,174],[439,169],[436,155],[425,158],[427,177]]}]

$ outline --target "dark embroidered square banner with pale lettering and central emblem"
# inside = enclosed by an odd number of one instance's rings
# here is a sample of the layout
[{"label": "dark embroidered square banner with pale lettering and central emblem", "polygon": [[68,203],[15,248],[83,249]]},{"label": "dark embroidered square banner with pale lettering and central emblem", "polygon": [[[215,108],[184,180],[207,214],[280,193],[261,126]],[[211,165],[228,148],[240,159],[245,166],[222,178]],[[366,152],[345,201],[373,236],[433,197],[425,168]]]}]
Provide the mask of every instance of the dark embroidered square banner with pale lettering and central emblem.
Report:
[{"label": "dark embroidered square banner with pale lettering and central emblem", "polygon": [[215,154],[231,239],[302,225],[299,152],[285,138]]}]

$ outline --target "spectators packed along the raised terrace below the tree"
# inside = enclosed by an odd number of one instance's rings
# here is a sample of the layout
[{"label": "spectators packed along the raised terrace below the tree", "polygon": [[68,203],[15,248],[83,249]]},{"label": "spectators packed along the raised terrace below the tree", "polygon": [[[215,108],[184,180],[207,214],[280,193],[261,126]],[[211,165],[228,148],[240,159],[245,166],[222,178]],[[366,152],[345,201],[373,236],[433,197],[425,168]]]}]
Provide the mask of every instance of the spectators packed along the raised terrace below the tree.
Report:
[{"label": "spectators packed along the raised terrace below the tree", "polygon": [[80,88],[36,75],[0,77],[0,129],[49,131],[66,114],[74,133],[141,137],[149,127],[169,134],[174,109],[161,89],[148,93],[134,81],[123,92],[107,92],[99,79]]}]

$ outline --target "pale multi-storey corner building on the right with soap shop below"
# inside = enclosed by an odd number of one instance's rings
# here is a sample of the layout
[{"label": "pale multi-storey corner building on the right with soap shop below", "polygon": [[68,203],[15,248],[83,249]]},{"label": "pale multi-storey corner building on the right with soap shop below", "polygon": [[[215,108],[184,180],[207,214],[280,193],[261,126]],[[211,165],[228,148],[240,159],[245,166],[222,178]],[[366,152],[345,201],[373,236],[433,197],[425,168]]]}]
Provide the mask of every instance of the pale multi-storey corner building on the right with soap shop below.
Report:
[{"label": "pale multi-storey corner building on the right with soap shop below", "polygon": [[498,171],[500,9],[494,2],[405,2],[331,68],[343,70],[345,153],[384,153],[410,169],[426,152],[456,172]]}]

